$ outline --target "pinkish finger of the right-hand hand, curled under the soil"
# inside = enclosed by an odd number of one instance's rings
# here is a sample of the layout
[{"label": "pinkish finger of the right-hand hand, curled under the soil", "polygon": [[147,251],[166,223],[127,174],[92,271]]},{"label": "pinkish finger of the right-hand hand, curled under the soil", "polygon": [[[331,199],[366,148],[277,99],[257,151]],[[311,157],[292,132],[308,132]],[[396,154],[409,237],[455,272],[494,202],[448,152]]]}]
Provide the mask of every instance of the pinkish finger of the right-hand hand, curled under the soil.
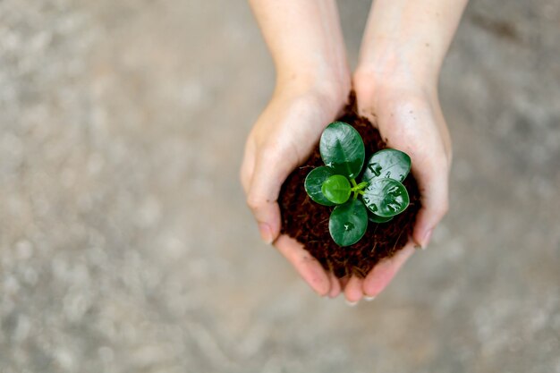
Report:
[{"label": "pinkish finger of the right-hand hand, curled under the soil", "polygon": [[414,252],[413,242],[409,242],[403,250],[395,254],[393,258],[382,260],[364,278],[361,291],[367,297],[376,297],[379,292],[386,288],[399,268],[409,259]]}]

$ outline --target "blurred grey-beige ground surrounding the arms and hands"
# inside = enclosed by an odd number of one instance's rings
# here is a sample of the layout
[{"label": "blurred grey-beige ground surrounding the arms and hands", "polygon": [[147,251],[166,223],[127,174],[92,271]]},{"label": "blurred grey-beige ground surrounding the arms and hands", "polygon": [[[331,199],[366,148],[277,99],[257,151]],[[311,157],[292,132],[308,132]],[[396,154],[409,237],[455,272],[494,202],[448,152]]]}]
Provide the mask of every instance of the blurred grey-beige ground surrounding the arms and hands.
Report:
[{"label": "blurred grey-beige ground surrounding the arms and hands", "polygon": [[[340,1],[355,64],[369,1]],[[0,372],[560,372],[560,3],[473,0],[451,211],[319,299],[238,183],[274,70],[242,1],[0,1]]]}]

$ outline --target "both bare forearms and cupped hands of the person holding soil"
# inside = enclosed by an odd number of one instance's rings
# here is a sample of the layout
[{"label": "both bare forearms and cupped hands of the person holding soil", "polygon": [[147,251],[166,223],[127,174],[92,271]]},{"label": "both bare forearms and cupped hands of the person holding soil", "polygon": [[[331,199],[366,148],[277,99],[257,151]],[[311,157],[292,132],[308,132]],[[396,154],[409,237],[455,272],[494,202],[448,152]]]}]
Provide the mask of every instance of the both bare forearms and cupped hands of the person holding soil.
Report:
[{"label": "both bare forearms and cupped hands of the person holding soil", "polygon": [[[250,131],[241,179],[265,242],[320,295],[340,292],[351,304],[385,289],[414,247],[426,247],[448,207],[451,140],[437,78],[466,0],[378,0],[369,13],[360,62],[352,75],[334,1],[250,0],[276,64],[276,89]],[[288,174],[310,156],[321,132],[356,90],[361,114],[388,145],[412,157],[422,209],[411,241],[363,279],[340,281],[300,243],[280,236],[276,202]]]}]

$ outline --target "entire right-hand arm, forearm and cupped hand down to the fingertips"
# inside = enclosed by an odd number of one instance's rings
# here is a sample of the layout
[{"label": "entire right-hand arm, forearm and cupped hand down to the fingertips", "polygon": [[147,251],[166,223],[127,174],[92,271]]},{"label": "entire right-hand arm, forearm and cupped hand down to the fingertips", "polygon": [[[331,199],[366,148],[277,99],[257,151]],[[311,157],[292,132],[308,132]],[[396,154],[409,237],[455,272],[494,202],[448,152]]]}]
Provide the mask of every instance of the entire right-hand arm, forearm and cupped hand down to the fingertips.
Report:
[{"label": "entire right-hand arm, forearm and cupped hand down to the fingertips", "polygon": [[437,98],[437,80],[467,0],[378,0],[372,6],[353,75],[358,108],[377,123],[391,148],[408,153],[422,208],[412,240],[364,278],[353,276],[346,299],[375,297],[414,251],[426,247],[447,211],[451,140]]}]

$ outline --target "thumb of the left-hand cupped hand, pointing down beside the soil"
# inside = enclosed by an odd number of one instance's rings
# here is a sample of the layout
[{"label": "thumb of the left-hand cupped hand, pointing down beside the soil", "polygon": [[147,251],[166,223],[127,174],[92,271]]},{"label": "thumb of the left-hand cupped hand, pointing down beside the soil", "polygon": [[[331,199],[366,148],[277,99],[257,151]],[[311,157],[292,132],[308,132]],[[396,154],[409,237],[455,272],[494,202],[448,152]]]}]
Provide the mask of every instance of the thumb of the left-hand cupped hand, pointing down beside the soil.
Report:
[{"label": "thumb of the left-hand cupped hand, pointing down beside the soil", "polygon": [[276,203],[280,187],[292,171],[283,157],[270,150],[257,155],[250,181],[247,204],[259,224],[262,239],[272,243],[280,234],[280,208]]}]

